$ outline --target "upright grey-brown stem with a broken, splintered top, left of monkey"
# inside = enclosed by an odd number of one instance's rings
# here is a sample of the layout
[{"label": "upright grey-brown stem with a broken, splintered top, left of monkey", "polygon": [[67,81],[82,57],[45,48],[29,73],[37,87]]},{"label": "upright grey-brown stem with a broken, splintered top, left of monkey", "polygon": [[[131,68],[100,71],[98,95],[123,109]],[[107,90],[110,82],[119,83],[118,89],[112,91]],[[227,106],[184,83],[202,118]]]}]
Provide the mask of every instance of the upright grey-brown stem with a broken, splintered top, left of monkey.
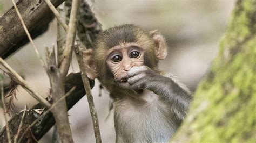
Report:
[{"label": "upright grey-brown stem with a broken, splintered top, left of monkey", "polygon": [[[46,48],[46,62],[47,74],[51,83],[51,97],[53,103],[56,103],[65,94],[64,80],[60,74],[60,69],[57,67],[56,56],[54,48],[49,51]],[[62,142],[73,142],[72,133],[68,118],[68,109],[66,108],[66,101],[60,102],[55,108],[52,108],[52,113],[55,118],[58,133]]]}]

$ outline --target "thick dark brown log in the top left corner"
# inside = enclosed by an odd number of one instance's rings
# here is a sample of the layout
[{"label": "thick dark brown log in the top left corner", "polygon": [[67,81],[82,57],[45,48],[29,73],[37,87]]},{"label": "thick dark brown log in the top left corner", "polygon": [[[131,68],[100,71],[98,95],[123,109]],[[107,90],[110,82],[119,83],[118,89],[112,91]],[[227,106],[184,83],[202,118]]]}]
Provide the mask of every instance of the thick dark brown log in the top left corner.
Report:
[{"label": "thick dark brown log in the top left corner", "polygon": [[[64,0],[51,0],[51,2],[57,7]],[[19,0],[16,5],[32,39],[47,30],[53,14],[45,1]],[[14,6],[0,17],[0,27],[0,56],[3,59],[29,42]]]}]

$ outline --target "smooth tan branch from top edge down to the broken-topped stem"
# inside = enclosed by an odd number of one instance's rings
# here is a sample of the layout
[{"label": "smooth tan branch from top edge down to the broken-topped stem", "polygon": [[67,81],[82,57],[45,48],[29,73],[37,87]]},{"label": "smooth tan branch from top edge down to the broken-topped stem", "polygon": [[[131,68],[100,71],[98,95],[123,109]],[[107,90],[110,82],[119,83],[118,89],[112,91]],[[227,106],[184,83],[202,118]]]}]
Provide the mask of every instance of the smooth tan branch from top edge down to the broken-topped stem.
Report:
[{"label": "smooth tan branch from top edge down to the broken-topped stem", "polygon": [[72,46],[76,38],[77,14],[79,10],[79,3],[80,3],[80,0],[72,1],[69,28],[68,28],[68,33],[66,35],[66,46],[63,52],[63,61],[62,61],[62,64],[60,65],[60,72],[62,73],[63,77],[65,77],[69,71],[69,66],[70,66],[70,61],[72,56]]}]

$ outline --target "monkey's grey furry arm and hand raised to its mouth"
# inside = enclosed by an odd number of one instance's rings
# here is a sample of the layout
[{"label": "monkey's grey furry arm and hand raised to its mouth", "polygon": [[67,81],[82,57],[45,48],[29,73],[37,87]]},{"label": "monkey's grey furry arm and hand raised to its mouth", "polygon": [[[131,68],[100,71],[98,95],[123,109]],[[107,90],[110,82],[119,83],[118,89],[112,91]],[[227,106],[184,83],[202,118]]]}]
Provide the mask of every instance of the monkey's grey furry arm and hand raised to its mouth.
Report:
[{"label": "monkey's grey furry arm and hand raised to its mouth", "polygon": [[183,120],[187,114],[192,96],[186,91],[184,85],[172,80],[172,78],[159,75],[147,66],[133,67],[128,72],[128,82],[135,90],[149,89],[159,95],[163,101],[171,107],[171,111],[178,120]]}]

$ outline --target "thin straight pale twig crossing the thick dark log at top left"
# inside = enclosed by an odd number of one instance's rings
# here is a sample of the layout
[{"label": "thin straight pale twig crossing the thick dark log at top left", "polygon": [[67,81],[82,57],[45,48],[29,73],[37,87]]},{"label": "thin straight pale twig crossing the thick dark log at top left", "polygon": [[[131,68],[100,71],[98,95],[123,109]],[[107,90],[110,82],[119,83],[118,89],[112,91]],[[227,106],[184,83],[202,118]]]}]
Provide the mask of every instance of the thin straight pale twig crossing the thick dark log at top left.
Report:
[{"label": "thin straight pale twig crossing the thick dark log at top left", "polygon": [[28,35],[28,38],[29,38],[31,44],[32,44],[33,48],[35,49],[35,52],[36,52],[36,54],[37,54],[37,56],[38,56],[38,58],[39,58],[39,61],[41,62],[41,64],[42,64],[42,66],[44,67],[44,69],[46,70],[46,67],[45,67],[45,65],[44,65],[44,61],[43,61],[42,57],[40,56],[40,54],[39,54],[39,52],[38,52],[38,50],[37,50],[37,48],[36,48],[36,45],[35,45],[35,43],[33,42],[32,38],[31,38],[31,35],[29,34],[28,28],[26,28],[26,25],[25,25],[25,23],[24,23],[24,21],[23,21],[23,19],[22,19],[21,13],[19,13],[19,10],[18,10],[18,8],[17,8],[17,5],[16,5],[15,1],[14,1],[14,0],[11,0],[11,1],[12,1],[12,3],[14,4],[14,8],[15,8],[15,10],[16,10],[16,12],[17,12],[17,15],[18,15],[18,17],[19,17],[19,20],[21,20],[21,23],[22,23],[22,26],[23,26],[23,28],[24,28],[24,30],[25,30],[25,32],[26,32],[26,35]]}]

